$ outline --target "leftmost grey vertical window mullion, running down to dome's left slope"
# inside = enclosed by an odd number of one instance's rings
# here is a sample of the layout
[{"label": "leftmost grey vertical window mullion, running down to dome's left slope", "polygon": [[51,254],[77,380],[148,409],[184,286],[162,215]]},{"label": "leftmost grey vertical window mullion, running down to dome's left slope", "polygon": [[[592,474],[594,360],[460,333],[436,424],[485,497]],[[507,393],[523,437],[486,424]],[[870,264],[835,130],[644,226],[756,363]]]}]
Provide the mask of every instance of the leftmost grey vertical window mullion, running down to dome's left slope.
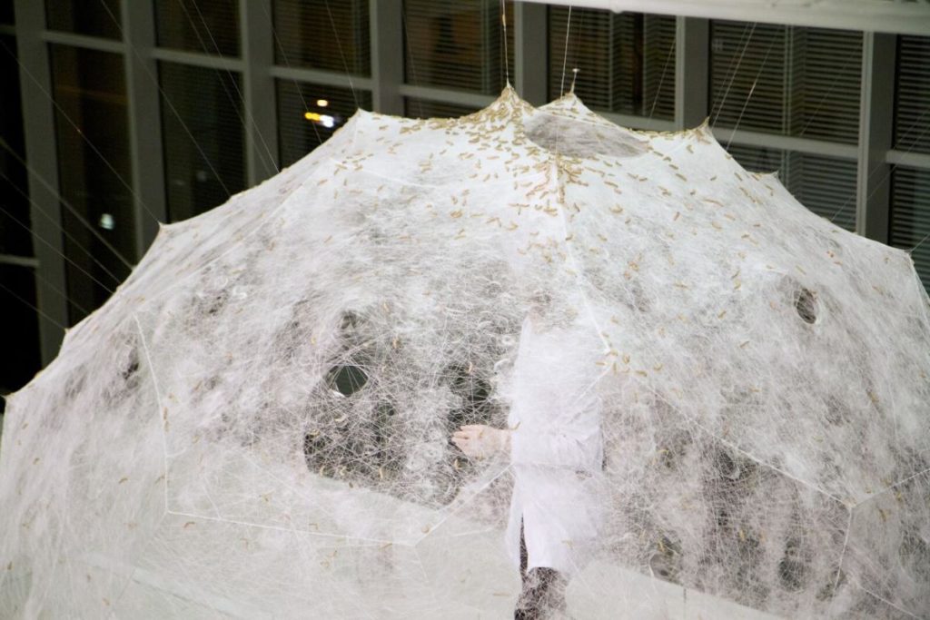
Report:
[{"label": "leftmost grey vertical window mullion, running down to dome's left slope", "polygon": [[52,76],[44,2],[15,0],[16,42],[20,60],[22,125],[29,165],[30,218],[37,277],[35,301],[39,310],[39,346],[43,365],[50,363],[61,346],[68,324],[68,302],[58,291],[67,290],[64,247],[61,239],[61,203],[55,109],[51,99]]}]

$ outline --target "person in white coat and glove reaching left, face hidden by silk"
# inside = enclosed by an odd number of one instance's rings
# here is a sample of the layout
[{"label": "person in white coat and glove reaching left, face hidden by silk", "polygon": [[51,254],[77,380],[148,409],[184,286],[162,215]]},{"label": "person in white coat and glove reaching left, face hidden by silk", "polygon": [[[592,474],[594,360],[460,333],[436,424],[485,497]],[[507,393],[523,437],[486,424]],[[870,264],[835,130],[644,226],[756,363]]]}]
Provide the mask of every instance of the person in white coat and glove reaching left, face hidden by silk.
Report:
[{"label": "person in white coat and glove reaching left, face hidden by silk", "polygon": [[[523,591],[515,618],[564,609],[567,579],[590,557],[604,505],[604,442],[596,384],[601,342],[577,320],[535,304],[513,364],[508,429],[469,425],[452,441],[466,455],[508,455],[514,475],[508,553]],[[547,310],[549,310],[547,312]]]}]

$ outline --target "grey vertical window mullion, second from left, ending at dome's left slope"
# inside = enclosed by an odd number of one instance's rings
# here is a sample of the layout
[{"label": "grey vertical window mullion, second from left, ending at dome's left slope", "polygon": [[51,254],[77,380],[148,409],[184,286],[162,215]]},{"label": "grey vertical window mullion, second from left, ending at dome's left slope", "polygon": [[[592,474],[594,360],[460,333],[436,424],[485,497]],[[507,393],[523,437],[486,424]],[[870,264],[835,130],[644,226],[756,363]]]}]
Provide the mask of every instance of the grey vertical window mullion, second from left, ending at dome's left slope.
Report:
[{"label": "grey vertical window mullion, second from left, ending at dome's left slope", "polygon": [[158,71],[153,59],[155,22],[152,0],[122,0],[129,115],[129,163],[132,168],[136,257],[142,257],[167,221],[165,158],[159,110]]}]

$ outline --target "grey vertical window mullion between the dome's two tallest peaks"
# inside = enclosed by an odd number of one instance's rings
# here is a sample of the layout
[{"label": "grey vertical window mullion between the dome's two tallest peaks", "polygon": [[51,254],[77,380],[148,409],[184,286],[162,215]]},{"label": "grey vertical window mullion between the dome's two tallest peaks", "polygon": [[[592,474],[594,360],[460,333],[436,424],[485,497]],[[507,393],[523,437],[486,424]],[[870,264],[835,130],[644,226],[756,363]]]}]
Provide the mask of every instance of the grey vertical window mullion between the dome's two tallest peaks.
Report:
[{"label": "grey vertical window mullion between the dome's two tallest peaks", "polygon": [[549,28],[546,6],[518,2],[513,6],[513,86],[520,97],[540,106],[549,99],[547,62]]}]

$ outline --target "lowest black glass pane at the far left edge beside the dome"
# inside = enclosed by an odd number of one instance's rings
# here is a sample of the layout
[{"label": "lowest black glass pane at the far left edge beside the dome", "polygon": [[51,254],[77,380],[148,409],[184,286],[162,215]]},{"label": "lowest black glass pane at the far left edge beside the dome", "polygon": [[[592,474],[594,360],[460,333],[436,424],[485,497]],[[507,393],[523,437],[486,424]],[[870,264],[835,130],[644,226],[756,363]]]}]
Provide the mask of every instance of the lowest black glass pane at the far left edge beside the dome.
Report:
[{"label": "lowest black glass pane at the far left edge beside the dome", "polygon": [[41,367],[33,270],[0,264],[0,394],[26,385]]}]

